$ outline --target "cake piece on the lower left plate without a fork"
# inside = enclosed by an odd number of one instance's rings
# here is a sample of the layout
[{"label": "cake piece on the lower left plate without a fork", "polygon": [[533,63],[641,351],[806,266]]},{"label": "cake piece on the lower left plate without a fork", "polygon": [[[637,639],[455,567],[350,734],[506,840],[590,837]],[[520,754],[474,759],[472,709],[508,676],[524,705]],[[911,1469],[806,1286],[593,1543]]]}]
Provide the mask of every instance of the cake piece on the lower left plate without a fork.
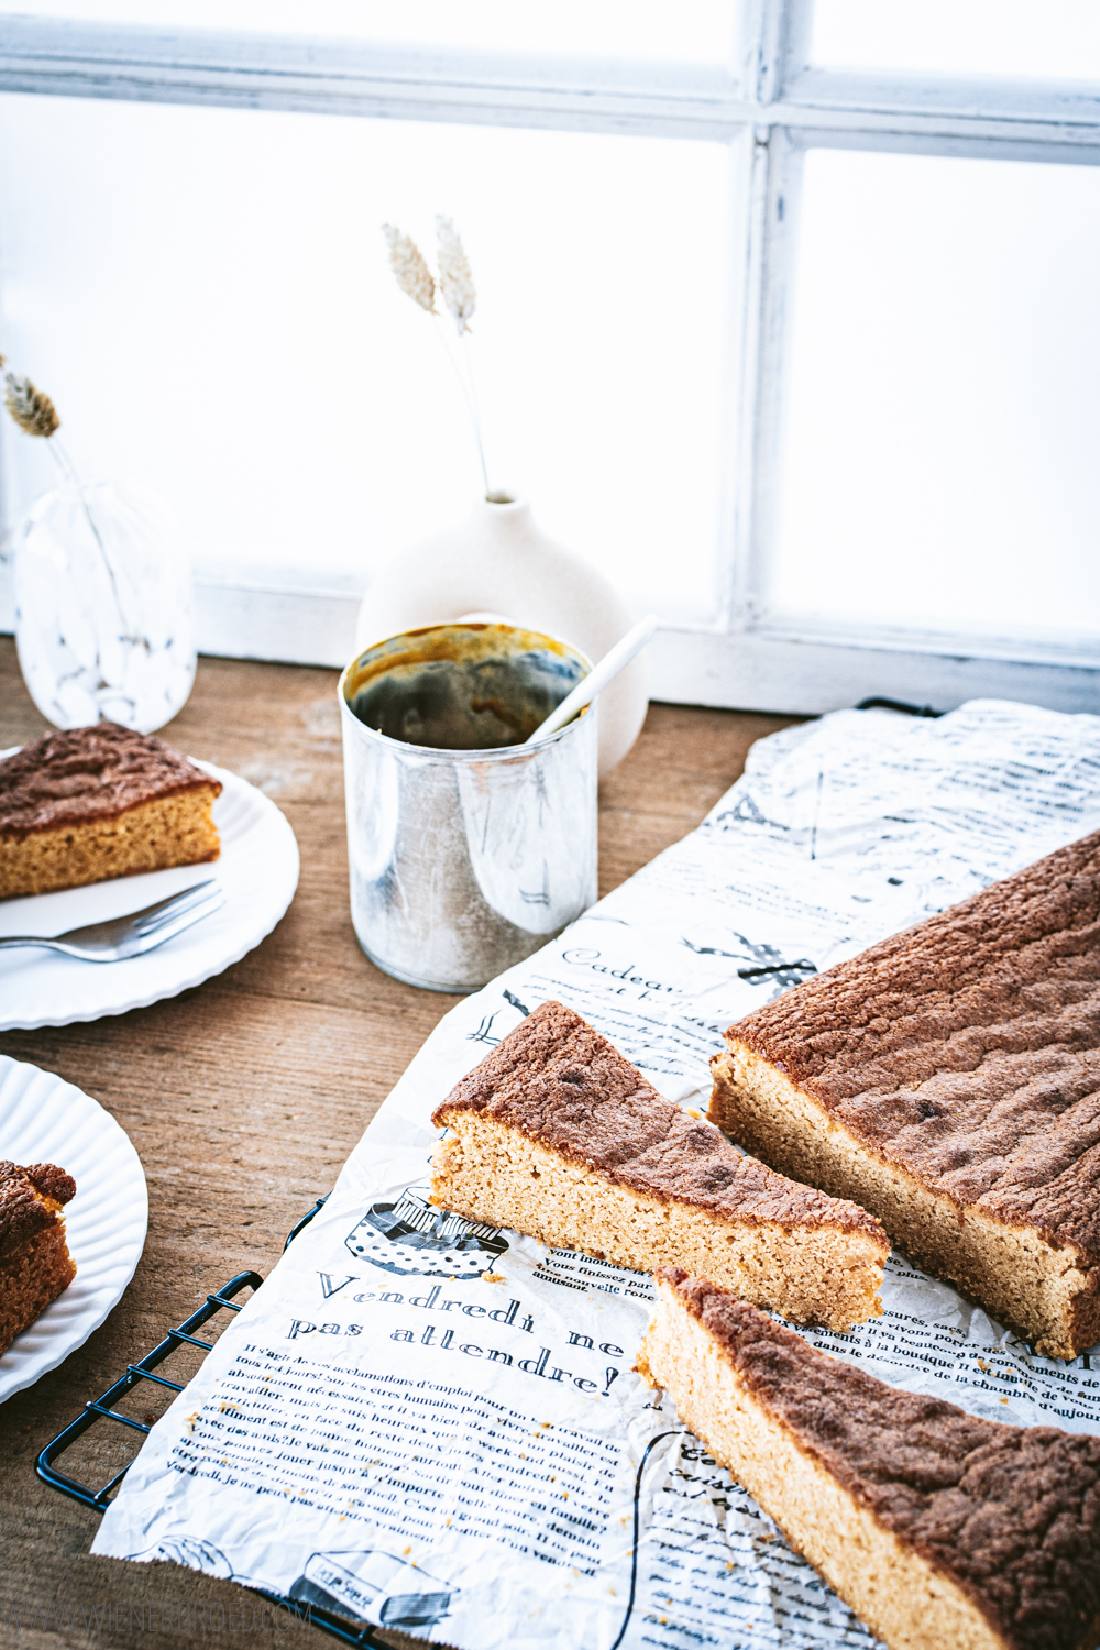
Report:
[{"label": "cake piece on the lower left plate without a fork", "polygon": [[76,1277],[61,1214],[74,1193],[56,1163],[0,1163],[0,1355]]}]

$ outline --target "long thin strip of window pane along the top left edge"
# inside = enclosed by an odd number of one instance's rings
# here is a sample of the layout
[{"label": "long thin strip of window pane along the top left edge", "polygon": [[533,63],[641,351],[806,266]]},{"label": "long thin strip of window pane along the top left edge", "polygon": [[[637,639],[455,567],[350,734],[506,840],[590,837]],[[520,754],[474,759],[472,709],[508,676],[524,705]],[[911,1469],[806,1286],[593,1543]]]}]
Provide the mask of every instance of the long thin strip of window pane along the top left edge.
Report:
[{"label": "long thin strip of window pane along the top left edge", "polygon": [[21,16],[335,35],[478,51],[726,63],[739,0],[20,0]]}]

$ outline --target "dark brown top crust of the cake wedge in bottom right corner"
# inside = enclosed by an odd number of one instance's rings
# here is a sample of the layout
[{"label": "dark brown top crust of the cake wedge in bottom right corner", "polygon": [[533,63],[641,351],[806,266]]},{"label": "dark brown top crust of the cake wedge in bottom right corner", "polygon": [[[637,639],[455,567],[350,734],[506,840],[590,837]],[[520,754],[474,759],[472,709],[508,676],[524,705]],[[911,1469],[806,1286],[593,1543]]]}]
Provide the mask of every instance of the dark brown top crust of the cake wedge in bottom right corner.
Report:
[{"label": "dark brown top crust of the cake wedge in bottom right corner", "polygon": [[1100,1612],[1100,1439],[900,1393],[679,1269],[656,1274],[745,1391],[1021,1650],[1072,1650]]}]

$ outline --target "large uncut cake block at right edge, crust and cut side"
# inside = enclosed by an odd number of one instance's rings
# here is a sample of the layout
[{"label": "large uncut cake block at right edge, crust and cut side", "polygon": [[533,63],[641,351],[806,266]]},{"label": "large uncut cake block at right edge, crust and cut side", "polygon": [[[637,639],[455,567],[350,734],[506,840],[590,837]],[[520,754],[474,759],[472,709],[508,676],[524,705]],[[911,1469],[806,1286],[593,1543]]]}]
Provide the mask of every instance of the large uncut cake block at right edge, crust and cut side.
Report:
[{"label": "large uncut cake block at right edge, crust and cut side", "polygon": [[726,1033],[711,1119],[1049,1358],[1100,1341],[1100,833]]}]

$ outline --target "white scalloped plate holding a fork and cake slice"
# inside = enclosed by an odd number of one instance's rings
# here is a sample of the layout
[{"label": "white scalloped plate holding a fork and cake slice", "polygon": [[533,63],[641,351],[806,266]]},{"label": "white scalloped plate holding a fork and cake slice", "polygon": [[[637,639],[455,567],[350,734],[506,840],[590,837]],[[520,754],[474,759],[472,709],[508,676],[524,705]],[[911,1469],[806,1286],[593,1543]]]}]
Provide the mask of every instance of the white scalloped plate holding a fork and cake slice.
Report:
[{"label": "white scalloped plate holding a fork and cake slice", "polygon": [[0,934],[53,937],[140,911],[208,876],[226,893],[221,911],[129,962],[76,962],[51,950],[0,950],[0,1031],[68,1026],[76,1020],[147,1008],[221,974],[270,934],[299,886],[299,845],[290,823],[246,779],[213,762],[196,766],[223,784],[214,802],[221,858],[213,865],[119,876],[56,894],[2,899]]}]

